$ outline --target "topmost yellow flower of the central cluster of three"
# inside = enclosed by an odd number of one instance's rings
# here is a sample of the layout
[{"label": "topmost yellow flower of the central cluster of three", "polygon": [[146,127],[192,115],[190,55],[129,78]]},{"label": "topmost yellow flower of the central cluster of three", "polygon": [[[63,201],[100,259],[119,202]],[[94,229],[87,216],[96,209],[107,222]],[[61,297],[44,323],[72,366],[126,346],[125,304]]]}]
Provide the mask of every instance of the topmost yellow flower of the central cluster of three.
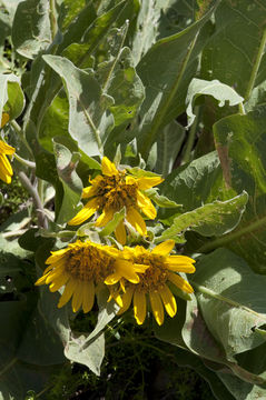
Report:
[{"label": "topmost yellow flower of the central cluster of three", "polygon": [[[147,234],[147,228],[139,210],[149,219],[156,218],[156,209],[145,190],[162,182],[160,177],[136,178],[118,170],[107,157],[101,161],[102,174],[90,181],[91,186],[83,189],[82,198],[89,199],[87,204],[68,223],[77,226],[90,218],[96,211],[101,211],[96,221],[97,227],[105,227],[114,214],[126,208],[126,220],[141,234]],[[117,240],[126,243],[125,221],[115,231]]]}]

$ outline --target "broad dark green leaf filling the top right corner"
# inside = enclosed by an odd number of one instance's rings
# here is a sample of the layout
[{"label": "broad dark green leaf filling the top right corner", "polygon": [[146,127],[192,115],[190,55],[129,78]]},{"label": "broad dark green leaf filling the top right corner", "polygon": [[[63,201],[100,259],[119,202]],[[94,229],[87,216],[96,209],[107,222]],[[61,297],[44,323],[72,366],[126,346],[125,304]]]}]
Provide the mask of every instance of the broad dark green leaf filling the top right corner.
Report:
[{"label": "broad dark green leaf filling the top right corner", "polygon": [[218,79],[246,100],[255,83],[266,28],[264,4],[254,6],[249,0],[221,1],[201,59],[200,78]]}]

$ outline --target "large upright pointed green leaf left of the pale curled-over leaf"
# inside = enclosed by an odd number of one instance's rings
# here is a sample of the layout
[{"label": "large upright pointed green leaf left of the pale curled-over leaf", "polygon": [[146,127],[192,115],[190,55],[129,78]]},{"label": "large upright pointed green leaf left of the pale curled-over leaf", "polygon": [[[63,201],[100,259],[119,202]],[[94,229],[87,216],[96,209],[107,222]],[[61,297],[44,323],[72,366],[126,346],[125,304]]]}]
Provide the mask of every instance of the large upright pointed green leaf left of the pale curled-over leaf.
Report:
[{"label": "large upright pointed green leaf left of the pale curled-over leaf", "polygon": [[[197,69],[197,56],[206,41],[198,32],[210,18],[214,7],[184,31],[155,43],[137,67],[146,88],[146,99],[140,109],[141,123],[132,133],[140,143],[140,153],[147,159],[159,132],[185,109],[187,87]],[[164,62],[158,62],[164,60]]]}]

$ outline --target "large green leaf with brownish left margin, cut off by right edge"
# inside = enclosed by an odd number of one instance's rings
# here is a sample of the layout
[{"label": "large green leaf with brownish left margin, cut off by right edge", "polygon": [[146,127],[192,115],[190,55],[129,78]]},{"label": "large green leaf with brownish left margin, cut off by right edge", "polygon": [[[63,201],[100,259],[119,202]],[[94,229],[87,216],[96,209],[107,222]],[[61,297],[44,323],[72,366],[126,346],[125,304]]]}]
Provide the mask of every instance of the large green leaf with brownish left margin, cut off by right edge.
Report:
[{"label": "large green leaf with brownish left margin, cut off by right edge", "polygon": [[226,246],[243,256],[252,268],[266,272],[266,160],[265,160],[266,106],[246,116],[235,114],[219,120],[214,126],[217,150],[227,187],[249,194],[247,209],[234,233],[209,242],[200,251]]}]

